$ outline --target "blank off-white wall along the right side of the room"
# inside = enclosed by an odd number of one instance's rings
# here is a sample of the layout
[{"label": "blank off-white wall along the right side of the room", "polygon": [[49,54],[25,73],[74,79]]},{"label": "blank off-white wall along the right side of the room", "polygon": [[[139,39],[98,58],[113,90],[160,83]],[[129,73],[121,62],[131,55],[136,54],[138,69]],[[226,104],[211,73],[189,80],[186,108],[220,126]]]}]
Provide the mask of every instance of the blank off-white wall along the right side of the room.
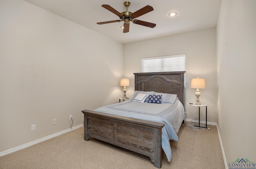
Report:
[{"label": "blank off-white wall along the right side of the room", "polygon": [[217,26],[218,127],[226,162],[256,162],[256,1],[222,0]]}]

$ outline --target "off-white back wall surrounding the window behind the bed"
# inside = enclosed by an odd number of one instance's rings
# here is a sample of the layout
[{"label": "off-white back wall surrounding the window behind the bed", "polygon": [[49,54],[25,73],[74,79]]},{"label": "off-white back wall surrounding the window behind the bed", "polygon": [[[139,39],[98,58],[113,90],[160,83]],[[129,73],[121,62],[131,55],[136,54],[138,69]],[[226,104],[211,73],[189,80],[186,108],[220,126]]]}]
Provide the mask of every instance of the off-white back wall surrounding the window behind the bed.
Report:
[{"label": "off-white back wall surrounding the window behind the bed", "polygon": [[[154,38],[124,44],[124,77],[130,79],[126,94],[134,93],[134,75],[141,72],[141,58],[186,54],[186,103],[195,102],[196,89],[190,89],[192,78],[205,78],[206,89],[200,89],[200,101],[206,103],[207,121],[217,120],[216,28]],[[198,119],[196,108],[186,105],[187,119]],[[203,109],[202,109],[202,112]],[[205,113],[200,113],[205,121]]]}]

